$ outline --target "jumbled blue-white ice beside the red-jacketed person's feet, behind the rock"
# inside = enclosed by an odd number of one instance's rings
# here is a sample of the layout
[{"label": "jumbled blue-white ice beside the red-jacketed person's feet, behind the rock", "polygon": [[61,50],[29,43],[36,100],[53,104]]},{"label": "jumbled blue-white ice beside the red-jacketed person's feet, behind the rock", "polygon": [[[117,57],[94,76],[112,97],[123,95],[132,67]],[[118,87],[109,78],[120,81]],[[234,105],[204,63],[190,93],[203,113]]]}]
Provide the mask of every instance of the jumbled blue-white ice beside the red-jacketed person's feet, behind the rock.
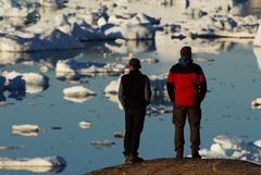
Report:
[{"label": "jumbled blue-white ice beside the red-jacketed person's feet, behind the rock", "polygon": [[219,135],[214,137],[210,149],[201,149],[203,158],[224,158],[247,160],[261,164],[260,140],[245,142],[237,137]]}]

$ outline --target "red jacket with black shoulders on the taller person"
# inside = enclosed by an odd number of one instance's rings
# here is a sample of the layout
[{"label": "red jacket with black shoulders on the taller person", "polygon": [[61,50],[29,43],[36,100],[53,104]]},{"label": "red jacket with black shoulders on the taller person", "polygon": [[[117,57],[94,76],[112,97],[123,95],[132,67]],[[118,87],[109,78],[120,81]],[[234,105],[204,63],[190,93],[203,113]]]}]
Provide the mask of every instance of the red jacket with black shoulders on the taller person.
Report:
[{"label": "red jacket with black shoulders on the taller person", "polygon": [[207,82],[203,71],[198,64],[177,63],[167,75],[166,88],[170,99],[175,104],[194,105],[200,103],[207,92]]}]

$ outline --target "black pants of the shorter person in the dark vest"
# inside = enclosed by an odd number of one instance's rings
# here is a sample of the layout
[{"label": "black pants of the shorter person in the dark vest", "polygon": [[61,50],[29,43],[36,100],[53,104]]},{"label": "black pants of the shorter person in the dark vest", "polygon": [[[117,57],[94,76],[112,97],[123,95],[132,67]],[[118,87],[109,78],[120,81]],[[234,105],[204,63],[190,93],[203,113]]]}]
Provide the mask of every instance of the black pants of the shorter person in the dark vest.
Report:
[{"label": "black pants of the shorter person in the dark vest", "polygon": [[144,129],[145,109],[125,109],[124,154],[138,155],[140,134]]}]

